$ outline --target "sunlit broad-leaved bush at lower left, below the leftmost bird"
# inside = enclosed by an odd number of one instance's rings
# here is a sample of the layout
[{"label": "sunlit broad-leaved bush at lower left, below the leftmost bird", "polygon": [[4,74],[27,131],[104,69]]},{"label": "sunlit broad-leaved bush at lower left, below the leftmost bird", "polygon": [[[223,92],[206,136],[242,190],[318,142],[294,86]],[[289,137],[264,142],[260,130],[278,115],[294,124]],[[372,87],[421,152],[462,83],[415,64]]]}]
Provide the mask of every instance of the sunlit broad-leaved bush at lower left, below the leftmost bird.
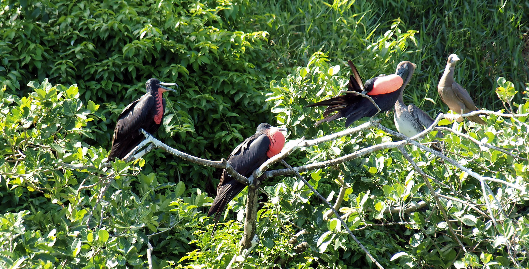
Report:
[{"label": "sunlit broad-leaved bush at lower left, below the leftmost bird", "polygon": [[101,169],[107,151],[81,140],[87,122],[105,120],[99,105],[85,106],[76,85],[29,85],[22,98],[0,90],[1,266],[141,267],[149,240],[166,259],[191,251],[212,198],[143,174],[144,160]]}]

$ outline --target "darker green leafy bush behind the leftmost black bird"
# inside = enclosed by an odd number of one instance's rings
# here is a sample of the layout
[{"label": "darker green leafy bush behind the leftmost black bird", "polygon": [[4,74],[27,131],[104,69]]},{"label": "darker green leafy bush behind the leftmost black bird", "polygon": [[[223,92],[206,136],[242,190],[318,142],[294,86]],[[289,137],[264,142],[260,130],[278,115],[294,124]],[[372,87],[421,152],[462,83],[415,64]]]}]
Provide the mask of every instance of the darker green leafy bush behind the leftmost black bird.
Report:
[{"label": "darker green leafy bush behind the leftmost black bird", "polygon": [[[151,77],[177,82],[158,137],[191,154],[220,159],[268,119],[263,91],[267,32],[239,25],[247,2],[6,1],[0,4],[0,81],[9,92],[30,80],[74,84],[80,100],[104,103],[90,144],[110,148],[123,108]],[[241,9],[238,7],[241,6]],[[242,31],[241,31],[242,30]],[[264,64],[263,64],[264,63]],[[92,123],[88,124],[93,127]],[[88,141],[87,141],[88,142]],[[212,170],[158,153],[148,172],[198,182]]]}]

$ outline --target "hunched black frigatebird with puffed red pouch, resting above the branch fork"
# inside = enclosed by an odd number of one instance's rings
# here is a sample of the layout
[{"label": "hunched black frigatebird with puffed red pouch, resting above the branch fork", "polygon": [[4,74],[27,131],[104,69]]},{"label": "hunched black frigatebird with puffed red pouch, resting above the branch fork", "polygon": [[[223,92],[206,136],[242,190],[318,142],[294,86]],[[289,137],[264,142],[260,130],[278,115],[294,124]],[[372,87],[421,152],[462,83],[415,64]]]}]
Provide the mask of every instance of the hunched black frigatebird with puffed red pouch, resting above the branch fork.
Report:
[{"label": "hunched black frigatebird with puffed red pouch, resting above the branch fork", "polygon": [[[246,138],[241,144],[235,147],[233,152],[228,156],[227,162],[244,177],[250,177],[253,170],[256,170],[265,163],[266,160],[278,154],[285,145],[285,136],[281,131],[287,131],[286,128],[273,127],[268,123],[261,123],[257,126],[256,134]],[[215,214],[215,227],[217,227],[220,215],[229,203],[246,185],[236,181],[229,175],[226,170],[222,171],[221,182],[218,183],[217,197],[207,216]]]}]

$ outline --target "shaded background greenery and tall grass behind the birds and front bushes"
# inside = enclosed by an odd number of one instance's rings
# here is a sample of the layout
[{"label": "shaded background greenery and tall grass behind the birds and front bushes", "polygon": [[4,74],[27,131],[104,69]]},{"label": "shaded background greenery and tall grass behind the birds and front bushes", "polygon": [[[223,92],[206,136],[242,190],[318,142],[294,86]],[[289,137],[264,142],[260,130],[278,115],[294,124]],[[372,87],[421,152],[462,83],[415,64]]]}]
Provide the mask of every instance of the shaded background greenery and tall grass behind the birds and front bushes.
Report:
[{"label": "shaded background greenery and tall grass behind the birds and front bushes", "polygon": [[[20,97],[33,91],[30,81],[77,84],[83,104],[101,104],[83,142],[106,149],[115,119],[147,79],[177,82],[157,136],[218,160],[259,123],[277,124],[265,101],[270,81],[318,51],[331,65],[353,60],[366,79],[402,60],[417,63],[405,103],[430,115],[448,110],[436,85],[446,57],[457,53],[460,84],[478,107],[499,109],[498,77],[517,88],[529,81],[528,14],[527,1],[9,0],[0,3],[0,81]],[[143,173],[155,172],[160,184],[183,181],[214,194],[220,171],[161,151],[145,159]],[[41,198],[13,195],[5,184],[0,194],[0,214],[31,210]],[[175,257],[190,250],[179,247]]]}]

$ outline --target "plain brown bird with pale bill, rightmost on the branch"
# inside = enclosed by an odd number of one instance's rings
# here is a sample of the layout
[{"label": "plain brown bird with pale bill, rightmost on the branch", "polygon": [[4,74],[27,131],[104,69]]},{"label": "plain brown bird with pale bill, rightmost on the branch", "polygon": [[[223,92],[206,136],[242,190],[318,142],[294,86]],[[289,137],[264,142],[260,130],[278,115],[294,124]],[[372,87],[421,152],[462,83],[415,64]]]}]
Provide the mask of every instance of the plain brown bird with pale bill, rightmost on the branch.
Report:
[{"label": "plain brown bird with pale bill, rightmost on the branch", "polygon": [[[461,87],[458,82],[454,81],[454,69],[457,61],[459,61],[457,54],[449,55],[443,76],[437,85],[437,91],[439,91],[441,100],[448,105],[450,110],[458,114],[465,114],[476,111],[478,108],[468,94],[468,91]],[[487,124],[485,120],[481,119],[478,115],[467,118],[475,123]],[[460,116],[458,122],[462,122],[462,120],[463,118]]]}]

